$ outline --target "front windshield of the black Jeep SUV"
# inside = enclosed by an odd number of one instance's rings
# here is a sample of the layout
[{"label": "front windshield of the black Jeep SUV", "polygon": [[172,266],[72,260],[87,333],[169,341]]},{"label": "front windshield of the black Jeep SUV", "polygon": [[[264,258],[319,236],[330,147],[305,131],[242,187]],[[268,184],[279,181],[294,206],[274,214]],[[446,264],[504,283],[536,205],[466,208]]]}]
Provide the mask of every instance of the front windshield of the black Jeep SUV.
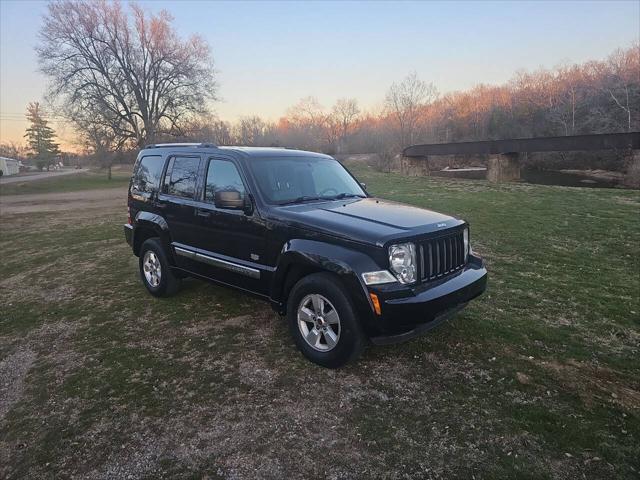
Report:
[{"label": "front windshield of the black Jeep SUV", "polygon": [[274,157],[252,159],[249,167],[271,204],[366,197],[360,184],[332,158]]}]

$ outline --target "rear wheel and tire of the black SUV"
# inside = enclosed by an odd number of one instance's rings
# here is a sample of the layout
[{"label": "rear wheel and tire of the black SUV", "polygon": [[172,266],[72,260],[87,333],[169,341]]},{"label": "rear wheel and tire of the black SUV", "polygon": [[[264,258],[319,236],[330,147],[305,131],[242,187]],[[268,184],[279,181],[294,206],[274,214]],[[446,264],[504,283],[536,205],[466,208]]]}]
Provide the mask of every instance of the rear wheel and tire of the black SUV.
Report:
[{"label": "rear wheel and tire of the black SUV", "polygon": [[180,280],[171,271],[167,254],[159,238],[144,241],[140,247],[138,265],[142,283],[154,297],[169,297],[179,290]]}]

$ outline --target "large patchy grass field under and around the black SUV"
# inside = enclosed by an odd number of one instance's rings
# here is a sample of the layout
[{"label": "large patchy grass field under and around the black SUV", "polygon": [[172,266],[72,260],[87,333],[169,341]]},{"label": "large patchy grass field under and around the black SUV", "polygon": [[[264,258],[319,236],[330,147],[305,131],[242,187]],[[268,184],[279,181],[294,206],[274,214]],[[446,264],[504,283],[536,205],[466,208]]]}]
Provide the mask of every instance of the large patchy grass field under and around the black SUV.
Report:
[{"label": "large patchy grass field under and around the black SUV", "polygon": [[490,283],[338,371],[258,300],[145,293],[124,207],[3,216],[0,477],[638,478],[640,193],[354,170],[468,219]]}]

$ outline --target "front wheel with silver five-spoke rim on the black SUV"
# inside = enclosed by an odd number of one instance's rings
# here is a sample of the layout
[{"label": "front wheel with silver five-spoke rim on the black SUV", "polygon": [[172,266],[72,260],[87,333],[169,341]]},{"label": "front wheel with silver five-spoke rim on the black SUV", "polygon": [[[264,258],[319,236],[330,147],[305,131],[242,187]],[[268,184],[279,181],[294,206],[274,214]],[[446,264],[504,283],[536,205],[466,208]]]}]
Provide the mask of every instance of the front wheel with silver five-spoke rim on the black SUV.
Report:
[{"label": "front wheel with silver five-spoke rim on the black SUV", "polygon": [[287,323],[298,349],[323,367],[338,368],[355,360],[366,345],[342,282],[329,273],[314,273],[294,285],[287,301]]}]

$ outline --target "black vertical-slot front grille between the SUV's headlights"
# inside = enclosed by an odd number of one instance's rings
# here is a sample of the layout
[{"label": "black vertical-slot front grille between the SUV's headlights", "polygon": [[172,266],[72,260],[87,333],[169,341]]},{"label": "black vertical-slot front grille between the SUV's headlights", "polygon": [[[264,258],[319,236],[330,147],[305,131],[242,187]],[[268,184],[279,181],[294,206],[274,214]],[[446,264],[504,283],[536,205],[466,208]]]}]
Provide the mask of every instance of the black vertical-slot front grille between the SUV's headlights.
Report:
[{"label": "black vertical-slot front grille between the SUV's headlights", "polygon": [[420,243],[422,281],[440,279],[464,267],[462,230]]}]

